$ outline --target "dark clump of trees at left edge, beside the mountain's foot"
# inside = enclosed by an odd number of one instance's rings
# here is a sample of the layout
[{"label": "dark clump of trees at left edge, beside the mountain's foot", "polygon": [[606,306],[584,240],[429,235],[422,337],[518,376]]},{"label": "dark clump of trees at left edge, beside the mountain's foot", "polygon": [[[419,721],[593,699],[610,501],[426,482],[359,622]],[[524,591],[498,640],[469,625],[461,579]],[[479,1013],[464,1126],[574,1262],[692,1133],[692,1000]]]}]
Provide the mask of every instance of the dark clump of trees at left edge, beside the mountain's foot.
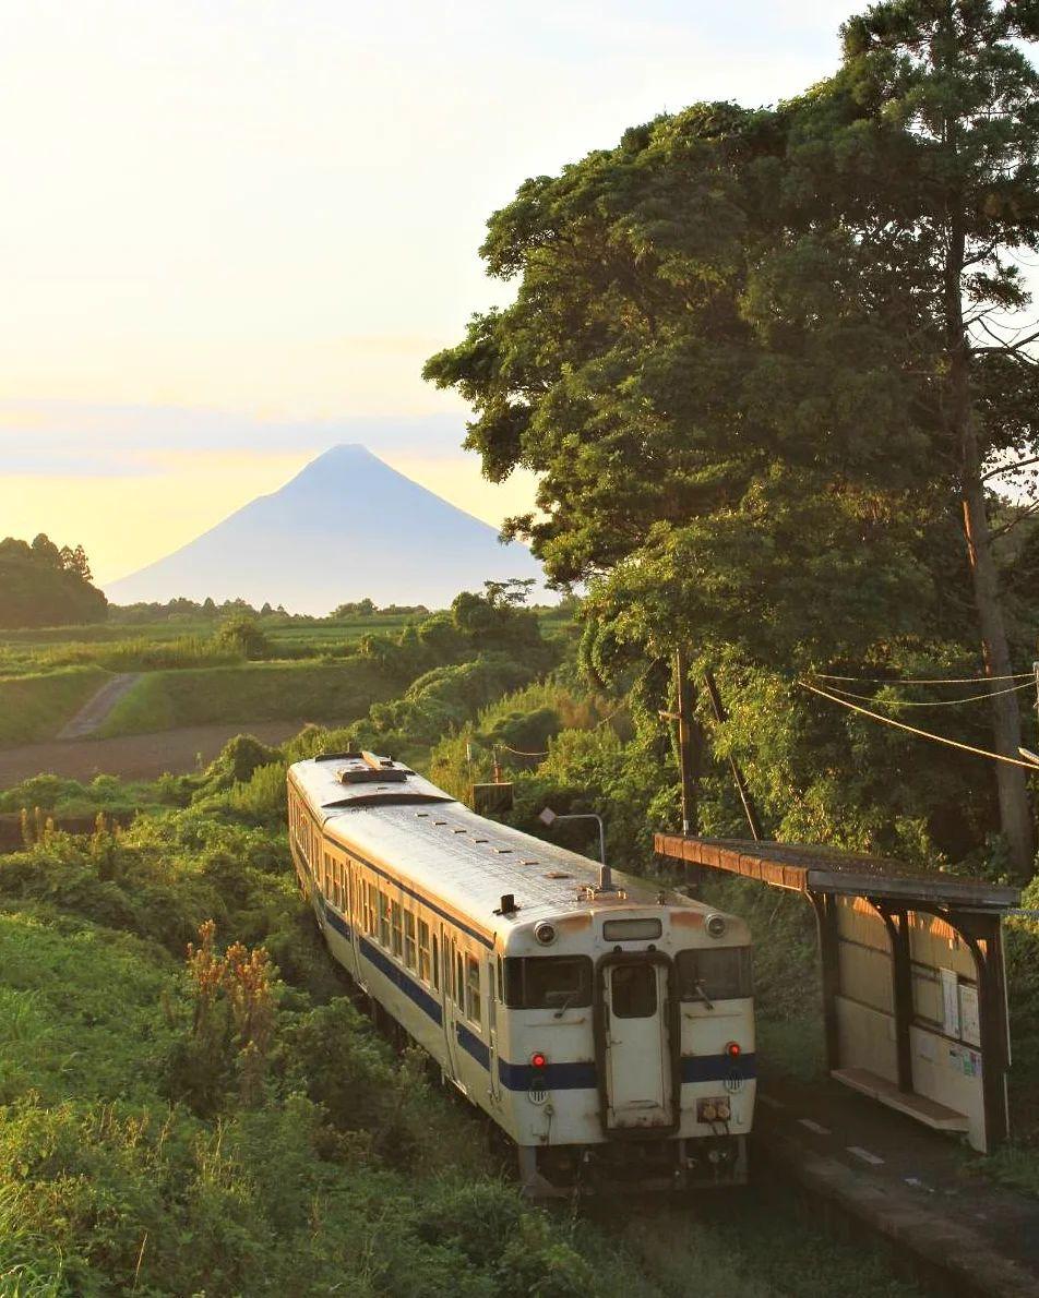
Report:
[{"label": "dark clump of trees at left edge, beside the mountain's foot", "polygon": [[0,541],[0,627],[104,622],[106,614],[82,545],[58,549],[43,532],[31,545],[13,536]]}]

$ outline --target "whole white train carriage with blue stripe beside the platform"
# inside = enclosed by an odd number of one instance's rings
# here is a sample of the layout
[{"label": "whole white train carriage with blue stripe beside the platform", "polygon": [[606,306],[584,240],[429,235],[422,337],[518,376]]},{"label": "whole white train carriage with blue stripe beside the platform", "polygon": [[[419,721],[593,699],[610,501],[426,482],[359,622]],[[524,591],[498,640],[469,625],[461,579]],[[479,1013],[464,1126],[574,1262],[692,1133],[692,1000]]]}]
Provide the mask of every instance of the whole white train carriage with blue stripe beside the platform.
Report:
[{"label": "whole white train carriage with blue stripe beside the platform", "polygon": [[747,1180],[743,919],[477,815],[388,757],[322,754],[287,785],[332,958],[514,1146],[526,1195]]}]

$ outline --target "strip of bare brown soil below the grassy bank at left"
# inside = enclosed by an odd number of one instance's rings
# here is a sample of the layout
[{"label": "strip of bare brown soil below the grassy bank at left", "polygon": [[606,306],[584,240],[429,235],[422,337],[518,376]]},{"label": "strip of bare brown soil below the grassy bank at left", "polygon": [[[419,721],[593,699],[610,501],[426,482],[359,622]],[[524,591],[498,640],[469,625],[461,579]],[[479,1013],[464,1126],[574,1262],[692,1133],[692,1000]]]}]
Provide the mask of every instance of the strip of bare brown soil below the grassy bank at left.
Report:
[{"label": "strip of bare brown soil below the grassy bank at left", "polygon": [[49,740],[23,748],[0,750],[0,789],[47,771],[74,780],[95,775],[118,775],[126,780],[153,780],[170,771],[195,771],[199,757],[212,762],[229,739],[255,735],[264,744],[283,744],[297,735],[305,722],[239,722],[221,726],[192,726],[158,731],[153,735],[122,735],[118,739]]}]

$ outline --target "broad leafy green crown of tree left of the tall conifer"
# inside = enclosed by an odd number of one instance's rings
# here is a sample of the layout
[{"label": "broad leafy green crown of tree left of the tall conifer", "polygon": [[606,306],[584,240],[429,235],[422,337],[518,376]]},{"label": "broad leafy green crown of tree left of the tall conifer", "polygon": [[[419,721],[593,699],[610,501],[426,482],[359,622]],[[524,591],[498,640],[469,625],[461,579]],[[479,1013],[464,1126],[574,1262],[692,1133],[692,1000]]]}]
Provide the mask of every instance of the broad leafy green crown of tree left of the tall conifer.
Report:
[{"label": "broad leafy green crown of tree left of the tall conifer", "polygon": [[488,476],[542,475],[510,527],[551,578],[656,569],[658,639],[790,661],[920,623],[934,511],[896,344],[840,286],[858,251],[788,238],[786,131],[697,105],[527,182],[483,247],[514,304],[426,374],[474,405]]}]

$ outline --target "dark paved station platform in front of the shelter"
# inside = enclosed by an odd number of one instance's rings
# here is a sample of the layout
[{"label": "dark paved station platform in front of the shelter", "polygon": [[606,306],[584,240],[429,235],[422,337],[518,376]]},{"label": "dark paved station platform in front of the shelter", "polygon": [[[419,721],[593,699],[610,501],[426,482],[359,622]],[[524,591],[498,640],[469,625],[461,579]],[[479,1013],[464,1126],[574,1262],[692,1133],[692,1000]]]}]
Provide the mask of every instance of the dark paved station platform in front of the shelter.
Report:
[{"label": "dark paved station platform in front of the shelter", "polygon": [[766,1075],[755,1141],[758,1175],[791,1172],[925,1259],[949,1293],[1039,1295],[1039,1199],[994,1184],[961,1137],[881,1107],[868,1085]]}]

